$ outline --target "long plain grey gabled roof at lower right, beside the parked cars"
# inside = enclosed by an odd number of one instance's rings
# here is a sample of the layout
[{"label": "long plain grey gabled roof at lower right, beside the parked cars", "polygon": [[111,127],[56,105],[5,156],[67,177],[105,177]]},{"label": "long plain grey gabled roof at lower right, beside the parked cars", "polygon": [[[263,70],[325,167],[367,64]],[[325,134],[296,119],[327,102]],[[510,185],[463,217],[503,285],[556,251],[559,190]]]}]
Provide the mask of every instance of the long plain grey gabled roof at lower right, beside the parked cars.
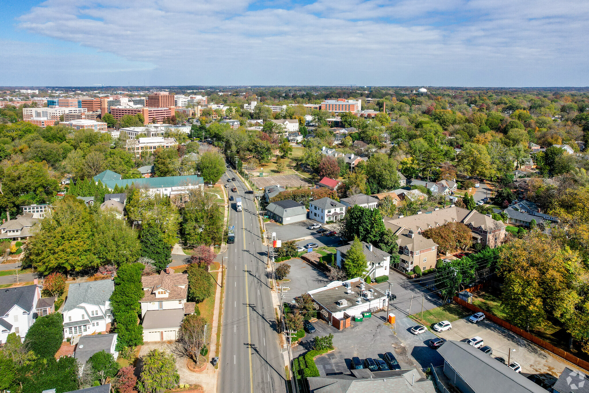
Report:
[{"label": "long plain grey gabled roof at lower right, beside the parked cars", "polygon": [[448,340],[438,354],[477,393],[546,393],[519,372],[465,342]]}]

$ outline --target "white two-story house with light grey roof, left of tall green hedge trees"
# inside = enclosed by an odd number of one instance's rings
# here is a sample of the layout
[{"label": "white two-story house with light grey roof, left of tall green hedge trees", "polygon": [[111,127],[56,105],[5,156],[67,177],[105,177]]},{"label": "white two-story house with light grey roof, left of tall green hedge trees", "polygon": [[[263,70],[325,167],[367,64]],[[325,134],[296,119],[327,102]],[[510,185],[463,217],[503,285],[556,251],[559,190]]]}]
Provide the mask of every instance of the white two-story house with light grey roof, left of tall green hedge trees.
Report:
[{"label": "white two-story house with light grey roof, left of tall green hedge trees", "polygon": [[64,316],[64,338],[106,332],[112,322],[110,297],[112,280],[70,284],[68,298],[61,313]]}]

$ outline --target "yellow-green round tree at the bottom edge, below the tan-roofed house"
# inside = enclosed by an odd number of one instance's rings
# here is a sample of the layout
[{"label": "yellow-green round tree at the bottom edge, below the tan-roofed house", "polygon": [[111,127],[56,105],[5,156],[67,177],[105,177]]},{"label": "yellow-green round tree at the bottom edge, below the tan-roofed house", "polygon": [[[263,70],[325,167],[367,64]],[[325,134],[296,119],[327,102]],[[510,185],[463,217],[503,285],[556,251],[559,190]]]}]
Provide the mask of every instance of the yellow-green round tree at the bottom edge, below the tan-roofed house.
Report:
[{"label": "yellow-green round tree at the bottom edge, below the tan-roofed house", "polygon": [[143,368],[137,389],[140,393],[163,393],[166,389],[175,388],[180,382],[174,355],[159,349],[152,349],[143,356]]}]

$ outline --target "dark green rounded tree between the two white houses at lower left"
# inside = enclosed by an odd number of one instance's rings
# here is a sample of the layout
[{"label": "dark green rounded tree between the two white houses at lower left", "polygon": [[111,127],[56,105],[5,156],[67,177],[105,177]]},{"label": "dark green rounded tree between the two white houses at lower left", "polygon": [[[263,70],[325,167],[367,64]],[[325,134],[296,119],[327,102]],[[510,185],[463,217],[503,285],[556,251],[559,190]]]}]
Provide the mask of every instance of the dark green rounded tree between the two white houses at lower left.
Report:
[{"label": "dark green rounded tree between the two white houses at lower left", "polygon": [[25,336],[25,346],[41,358],[52,358],[64,339],[63,316],[54,312],[39,316]]}]

